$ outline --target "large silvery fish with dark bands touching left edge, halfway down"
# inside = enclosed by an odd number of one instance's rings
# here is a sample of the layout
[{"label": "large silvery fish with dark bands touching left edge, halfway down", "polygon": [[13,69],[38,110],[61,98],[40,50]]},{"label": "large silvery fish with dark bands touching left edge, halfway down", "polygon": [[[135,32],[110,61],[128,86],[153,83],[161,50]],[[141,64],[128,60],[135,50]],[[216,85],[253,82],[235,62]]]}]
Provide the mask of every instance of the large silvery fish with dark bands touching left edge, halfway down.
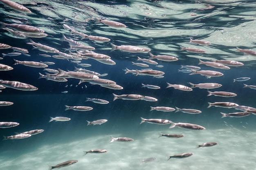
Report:
[{"label": "large silvery fish with dark bands touching left edge, halfway down", "polygon": [[38,90],[38,88],[33,85],[18,82],[18,81],[0,80],[0,84],[2,84],[5,87],[14,88],[14,89],[21,90],[21,91],[36,91],[36,90]]}]

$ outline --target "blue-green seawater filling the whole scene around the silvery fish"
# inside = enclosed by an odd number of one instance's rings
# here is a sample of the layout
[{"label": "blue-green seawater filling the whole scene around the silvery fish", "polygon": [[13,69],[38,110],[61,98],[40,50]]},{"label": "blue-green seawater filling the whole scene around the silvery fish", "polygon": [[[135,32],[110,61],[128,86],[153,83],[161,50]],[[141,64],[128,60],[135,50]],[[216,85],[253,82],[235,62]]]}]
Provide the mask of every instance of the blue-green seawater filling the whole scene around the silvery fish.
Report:
[{"label": "blue-green seawater filling the whole scene around the silvery fish", "polygon": [[[111,56],[115,65],[106,65],[92,59],[82,60],[91,64],[85,69],[98,73],[108,73],[104,79],[111,79],[123,90],[112,90],[88,82],[79,84],[78,79],[67,82],[53,82],[38,79],[43,68],[13,65],[11,71],[1,71],[0,79],[20,81],[38,87],[37,91],[19,91],[12,88],[2,89],[0,101],[11,101],[11,106],[0,107],[0,121],[16,121],[20,125],[0,129],[0,136],[14,135],[33,129],[44,129],[43,133],[27,139],[0,141],[0,167],[4,170],[38,169],[46,170],[47,164],[56,165],[67,160],[78,163],[63,169],[177,169],[191,170],[241,170],[254,169],[255,156],[255,115],[242,118],[221,118],[220,112],[237,112],[234,108],[207,108],[208,102],[234,102],[239,105],[256,107],[254,89],[243,88],[243,83],[256,85],[254,79],[255,57],[236,52],[236,47],[255,50],[255,2],[254,1],[20,1],[32,13],[15,11],[0,4],[0,21],[5,23],[27,24],[39,27],[48,34],[45,38],[31,38],[64,52],[68,42],[59,41],[62,34],[67,38],[94,46],[94,52]],[[212,7],[206,9],[207,7]],[[193,15],[191,15],[193,13]],[[126,28],[113,28],[102,23],[94,24],[95,17],[114,20],[126,24]],[[76,31],[88,35],[110,38],[110,42],[82,40],[75,34],[63,29],[63,24],[72,26]],[[209,46],[190,44],[189,39],[207,40]],[[11,66],[13,59],[21,61],[55,62],[49,68],[74,70],[77,64],[67,60],[47,58],[39,54],[49,54],[32,49],[26,44],[29,39],[19,39],[0,29],[0,43],[9,44],[29,50],[30,57],[19,55],[4,57],[1,64]],[[148,53],[129,53],[125,51],[110,52],[110,43],[116,45],[143,46],[151,49],[154,55],[173,55],[175,62],[157,61],[162,68],[150,65],[149,68],[164,71],[164,78],[135,76],[125,74],[124,69],[141,69],[132,65],[137,56],[148,58]],[[180,46],[204,49],[206,53],[198,54],[180,51]],[[0,53],[10,53],[11,49],[1,49]],[[67,51],[66,51],[67,53]],[[0,55],[1,57],[1,55]],[[198,59],[203,61],[236,60],[244,66],[222,70],[200,65],[201,70],[220,71],[221,77],[207,79],[202,75],[189,75],[178,72],[180,65],[198,66]],[[155,60],[156,61],[156,60]],[[142,63],[142,62],[141,62]],[[79,67],[83,68],[83,67]],[[251,77],[247,82],[234,82],[238,77]],[[193,88],[193,91],[180,91],[166,88],[167,84],[194,84],[214,82],[222,87],[210,91],[229,91],[236,97],[207,97],[207,89]],[[153,84],[161,89],[141,88],[143,84]],[[61,93],[68,91],[68,93]],[[130,101],[117,99],[113,95],[140,94],[155,97],[157,102],[144,100]],[[108,100],[109,104],[85,102],[86,97]],[[87,112],[65,111],[68,106],[91,106]],[[175,108],[194,108],[202,113],[191,115],[182,112],[150,112],[150,106],[169,106]],[[66,122],[50,122],[50,117],[70,117]],[[181,128],[168,129],[168,125],[141,124],[140,117],[146,119],[169,119],[173,122],[199,124],[206,130],[193,131]],[[88,121],[108,119],[105,124],[86,126]],[[158,138],[159,132],[181,133],[181,139]],[[132,137],[132,142],[109,143],[110,136]],[[204,142],[216,141],[218,146],[195,149]],[[107,153],[88,154],[83,151],[107,149]],[[208,152],[207,152],[208,151]],[[171,159],[167,155],[193,152],[186,159]],[[155,157],[156,160],[139,166],[139,160]],[[226,160],[226,161],[224,161]]]}]

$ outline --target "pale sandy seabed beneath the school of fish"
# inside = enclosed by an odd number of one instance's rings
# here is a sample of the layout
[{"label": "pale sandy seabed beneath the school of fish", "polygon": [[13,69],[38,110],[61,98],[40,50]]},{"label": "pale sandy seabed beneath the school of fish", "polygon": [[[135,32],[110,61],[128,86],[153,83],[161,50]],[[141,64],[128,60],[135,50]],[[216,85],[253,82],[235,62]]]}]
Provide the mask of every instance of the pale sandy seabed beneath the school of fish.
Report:
[{"label": "pale sandy seabed beneath the school of fish", "polygon": [[[246,130],[246,129],[245,129]],[[159,137],[158,131],[144,132],[135,137],[115,134],[113,137],[132,137],[134,141],[110,143],[110,135],[92,136],[63,144],[39,146],[15,159],[8,152],[1,155],[2,170],[48,170],[48,164],[55,166],[68,160],[77,163],[61,168],[63,170],[245,170],[255,169],[256,133],[236,128],[219,130],[183,130],[175,128],[169,134],[183,134],[184,137],[171,139]],[[167,133],[167,132],[162,132]],[[159,137],[159,138],[158,138]],[[215,141],[218,145],[197,148],[204,142]],[[108,152],[96,154],[83,151],[106,149]],[[193,152],[184,159],[168,155]],[[141,163],[145,158],[155,157],[155,161]]]}]

